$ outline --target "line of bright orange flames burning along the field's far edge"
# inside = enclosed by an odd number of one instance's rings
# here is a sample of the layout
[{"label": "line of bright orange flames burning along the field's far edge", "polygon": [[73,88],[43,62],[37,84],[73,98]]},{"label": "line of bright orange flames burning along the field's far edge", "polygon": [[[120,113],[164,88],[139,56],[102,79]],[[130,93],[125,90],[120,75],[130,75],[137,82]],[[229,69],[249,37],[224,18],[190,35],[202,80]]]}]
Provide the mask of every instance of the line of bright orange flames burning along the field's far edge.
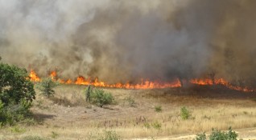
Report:
[{"label": "line of bright orange flames burning along the field's far edge", "polygon": [[[116,84],[108,84],[106,82],[101,82],[98,78],[91,79],[91,78],[85,78],[83,76],[79,76],[76,78],[75,81],[72,81],[72,79],[64,80],[57,78],[56,71],[52,71],[49,74],[49,77],[52,78],[54,81],[58,81],[62,84],[76,84],[76,85],[93,85],[93,86],[100,86],[100,87],[111,87],[111,88],[125,88],[125,89],[162,89],[162,88],[172,88],[172,87],[181,87],[181,82],[179,79],[175,79],[173,82],[152,82],[149,80],[142,79],[140,83],[137,84],[131,84],[129,82],[123,84],[123,83],[116,83]],[[37,76],[34,70],[31,70],[30,79],[32,82],[39,82],[40,78]],[[247,87],[240,87],[240,86],[233,86],[228,81],[226,81],[223,78],[216,78],[216,79],[210,79],[210,78],[193,78],[189,80],[188,82],[196,85],[223,85],[228,87],[231,90],[241,90],[245,92],[253,92],[254,90],[251,90]]]}]

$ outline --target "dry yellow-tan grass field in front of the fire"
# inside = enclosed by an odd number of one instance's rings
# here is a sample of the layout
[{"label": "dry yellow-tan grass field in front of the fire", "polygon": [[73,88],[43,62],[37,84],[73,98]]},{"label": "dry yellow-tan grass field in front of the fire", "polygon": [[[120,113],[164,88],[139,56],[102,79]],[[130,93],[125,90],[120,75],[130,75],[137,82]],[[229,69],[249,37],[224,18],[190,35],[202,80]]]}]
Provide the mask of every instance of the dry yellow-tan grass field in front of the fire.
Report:
[{"label": "dry yellow-tan grass field in front of the fire", "polygon": [[[212,128],[232,126],[239,138],[256,139],[256,94],[223,87],[186,89],[104,89],[114,105],[103,108],[85,102],[86,86],[58,86],[54,98],[37,95],[32,107],[36,124],[9,126],[0,139],[97,139],[112,131],[122,139],[192,139]],[[38,92],[37,92],[38,93]],[[192,116],[180,117],[186,106]],[[155,111],[159,107],[162,111]]]}]

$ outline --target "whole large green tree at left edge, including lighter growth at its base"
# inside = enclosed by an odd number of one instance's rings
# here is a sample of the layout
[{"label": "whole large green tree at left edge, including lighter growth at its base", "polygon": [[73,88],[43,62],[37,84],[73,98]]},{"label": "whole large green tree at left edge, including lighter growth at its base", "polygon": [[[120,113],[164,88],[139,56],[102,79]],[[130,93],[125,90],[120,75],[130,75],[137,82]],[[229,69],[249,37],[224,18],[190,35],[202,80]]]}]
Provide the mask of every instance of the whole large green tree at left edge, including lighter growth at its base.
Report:
[{"label": "whole large green tree at left edge, including lighter growth at its base", "polygon": [[0,63],[0,125],[14,125],[30,116],[35,99],[34,84],[27,70]]}]

